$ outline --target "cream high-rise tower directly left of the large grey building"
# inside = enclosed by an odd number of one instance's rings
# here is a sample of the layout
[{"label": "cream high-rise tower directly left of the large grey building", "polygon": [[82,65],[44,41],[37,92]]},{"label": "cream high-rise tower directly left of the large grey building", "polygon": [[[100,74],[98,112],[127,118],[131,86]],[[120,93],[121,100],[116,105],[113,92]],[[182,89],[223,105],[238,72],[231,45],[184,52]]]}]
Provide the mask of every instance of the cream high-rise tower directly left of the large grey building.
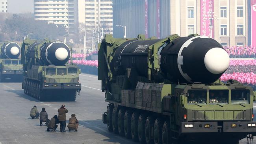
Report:
[{"label": "cream high-rise tower directly left of the large grey building", "polygon": [[79,23],[85,28],[103,29],[103,33],[113,33],[112,0],[78,0]]}]

